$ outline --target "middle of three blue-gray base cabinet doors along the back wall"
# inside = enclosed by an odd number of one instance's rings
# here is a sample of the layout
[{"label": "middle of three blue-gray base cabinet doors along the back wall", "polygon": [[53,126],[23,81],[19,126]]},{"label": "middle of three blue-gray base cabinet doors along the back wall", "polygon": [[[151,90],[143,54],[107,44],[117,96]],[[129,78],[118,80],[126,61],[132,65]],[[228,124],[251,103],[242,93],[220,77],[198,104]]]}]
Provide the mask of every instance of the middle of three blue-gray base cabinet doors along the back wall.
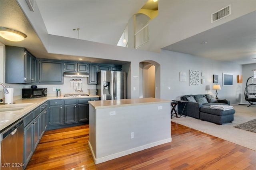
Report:
[{"label": "middle of three blue-gray base cabinet doors along the back wall", "polygon": [[64,105],[64,123],[76,123],[77,122],[77,108],[76,104]]}]

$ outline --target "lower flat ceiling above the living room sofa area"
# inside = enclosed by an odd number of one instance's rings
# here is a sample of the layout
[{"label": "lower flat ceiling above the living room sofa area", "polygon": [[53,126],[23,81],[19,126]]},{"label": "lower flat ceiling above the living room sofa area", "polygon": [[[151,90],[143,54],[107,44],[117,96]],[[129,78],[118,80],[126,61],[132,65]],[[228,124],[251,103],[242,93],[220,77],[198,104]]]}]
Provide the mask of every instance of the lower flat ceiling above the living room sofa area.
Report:
[{"label": "lower flat ceiling above the living room sofa area", "polygon": [[162,49],[240,64],[256,63],[252,60],[256,57],[256,11]]}]

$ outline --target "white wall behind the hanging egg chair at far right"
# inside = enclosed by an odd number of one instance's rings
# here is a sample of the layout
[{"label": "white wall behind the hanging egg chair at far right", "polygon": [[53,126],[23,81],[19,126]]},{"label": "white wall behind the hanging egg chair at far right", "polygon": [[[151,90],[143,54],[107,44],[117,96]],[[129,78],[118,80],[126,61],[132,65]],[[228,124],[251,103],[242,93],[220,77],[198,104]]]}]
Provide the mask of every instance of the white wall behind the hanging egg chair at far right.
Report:
[{"label": "white wall behind the hanging egg chair at far right", "polygon": [[[248,103],[244,98],[244,89],[246,87],[246,81],[249,77],[253,76],[253,71],[256,69],[256,63],[253,64],[245,64],[243,65],[243,83],[242,83],[242,103]],[[254,83],[256,84],[256,80],[254,79]],[[248,81],[248,84],[252,84],[252,79]]]}]

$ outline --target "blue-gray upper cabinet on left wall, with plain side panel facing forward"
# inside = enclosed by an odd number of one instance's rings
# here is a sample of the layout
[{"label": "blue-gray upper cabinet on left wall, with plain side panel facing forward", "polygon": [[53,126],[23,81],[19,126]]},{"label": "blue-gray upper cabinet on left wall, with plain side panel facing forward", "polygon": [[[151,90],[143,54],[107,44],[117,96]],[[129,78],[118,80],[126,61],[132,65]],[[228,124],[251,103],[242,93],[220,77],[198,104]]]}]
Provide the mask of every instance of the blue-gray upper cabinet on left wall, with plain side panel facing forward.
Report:
[{"label": "blue-gray upper cabinet on left wall, with plain side panel facing forward", "polygon": [[24,47],[5,46],[6,83],[36,83],[36,57]]}]

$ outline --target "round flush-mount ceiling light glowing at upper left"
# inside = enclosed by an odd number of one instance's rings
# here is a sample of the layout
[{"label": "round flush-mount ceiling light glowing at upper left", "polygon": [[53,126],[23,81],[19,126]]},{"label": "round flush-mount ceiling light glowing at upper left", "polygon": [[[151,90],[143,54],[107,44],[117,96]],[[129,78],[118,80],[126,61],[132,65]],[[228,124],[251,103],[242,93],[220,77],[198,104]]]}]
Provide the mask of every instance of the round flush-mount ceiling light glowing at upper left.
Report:
[{"label": "round flush-mount ceiling light glowing at upper left", "polygon": [[6,27],[0,27],[0,36],[12,42],[20,42],[27,37],[27,35],[22,32]]}]

